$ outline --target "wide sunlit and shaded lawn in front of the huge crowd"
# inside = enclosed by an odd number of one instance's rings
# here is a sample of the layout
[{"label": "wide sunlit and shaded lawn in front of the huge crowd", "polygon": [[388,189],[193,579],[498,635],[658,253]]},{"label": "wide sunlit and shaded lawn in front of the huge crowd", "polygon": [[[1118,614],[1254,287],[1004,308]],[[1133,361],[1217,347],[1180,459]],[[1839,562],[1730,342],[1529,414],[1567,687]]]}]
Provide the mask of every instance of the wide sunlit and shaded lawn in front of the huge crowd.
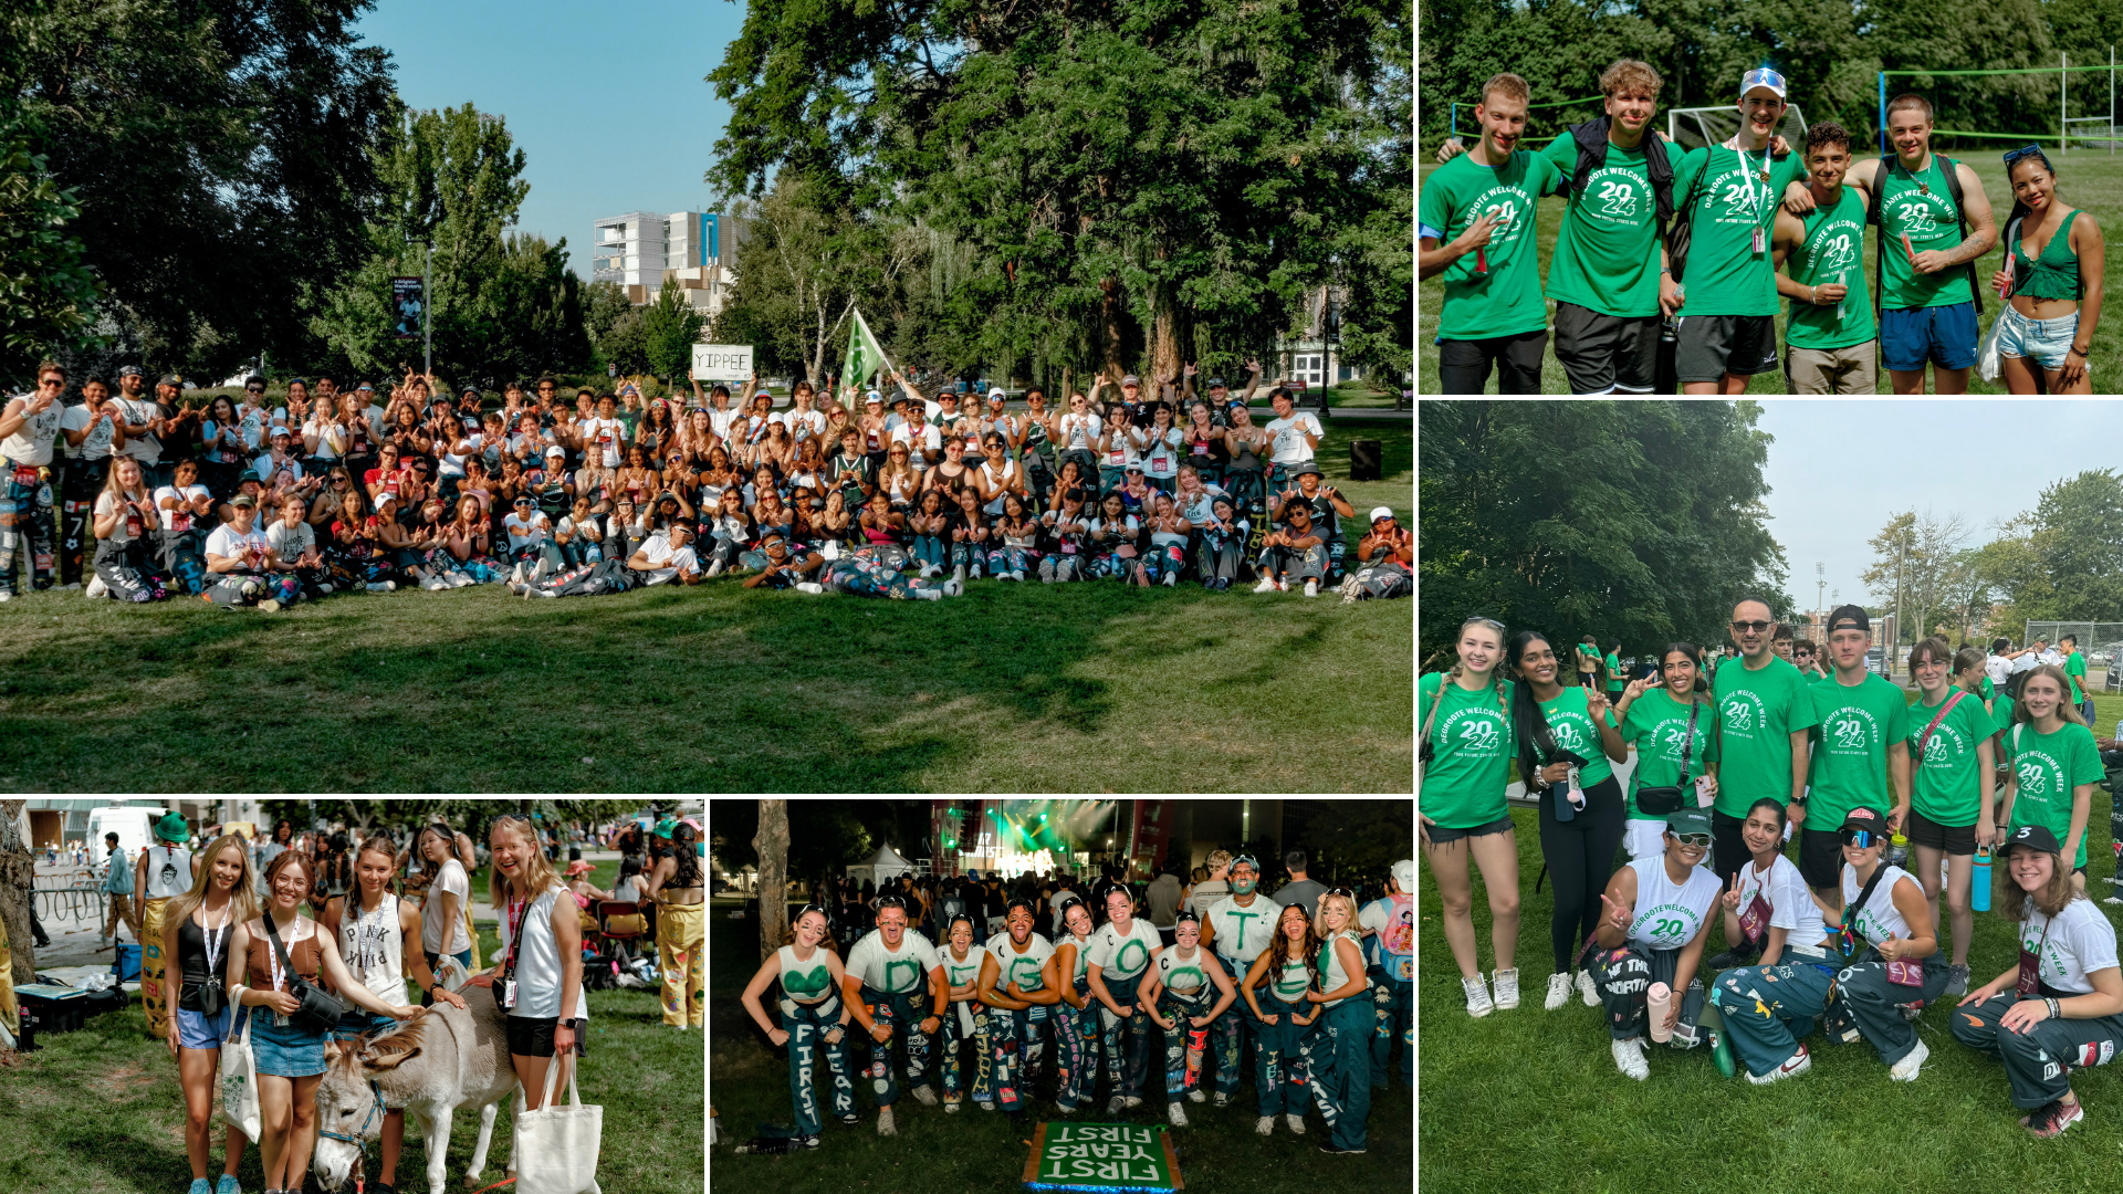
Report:
[{"label": "wide sunlit and shaded lawn in front of the huge crowd", "polygon": [[[1348,440],[1386,480],[1344,484]],[[1412,510],[1410,425],[1318,448]],[[1357,531],[1361,533],[1361,531]],[[11,790],[1408,790],[1414,601],[977,580],[951,601],[503,586],[0,610]]]}]

